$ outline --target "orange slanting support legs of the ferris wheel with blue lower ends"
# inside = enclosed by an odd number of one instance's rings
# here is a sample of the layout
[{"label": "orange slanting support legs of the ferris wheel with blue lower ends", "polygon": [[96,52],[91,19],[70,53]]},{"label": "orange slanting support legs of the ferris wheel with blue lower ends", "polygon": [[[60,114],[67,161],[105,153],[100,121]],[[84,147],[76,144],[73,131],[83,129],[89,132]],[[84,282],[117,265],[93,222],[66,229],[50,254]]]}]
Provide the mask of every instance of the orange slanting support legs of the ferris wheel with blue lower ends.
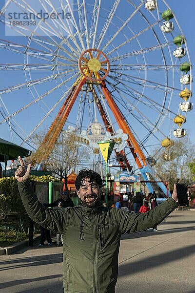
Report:
[{"label": "orange slanting support legs of the ferris wheel with blue lower ends", "polygon": [[[87,79],[83,76],[82,79],[80,79],[79,82],[77,82],[76,84],[74,84],[70,94],[68,95],[65,103],[62,105],[62,107],[60,108],[58,115],[56,117],[56,119],[54,120],[52,126],[50,127],[48,133],[46,134],[43,142],[44,144],[42,143],[41,144],[41,147],[39,147],[38,151],[36,154],[39,154],[39,153],[42,153],[42,157],[38,157],[37,156],[37,163],[41,163],[42,161],[44,161],[45,159],[48,158],[48,156],[50,155],[53,147],[54,147],[54,144],[58,138],[58,135],[59,135],[59,132],[61,131],[61,129],[63,128],[67,118],[68,118],[68,115],[70,114],[70,111],[72,109],[72,106],[74,105],[77,97],[78,97],[78,94],[82,88],[82,86],[85,84],[85,82],[87,81]],[[140,172],[141,172],[141,175],[144,179],[144,181],[148,181],[148,178],[147,178],[147,175],[146,173],[150,173],[154,180],[156,181],[157,185],[161,188],[161,190],[163,191],[163,193],[166,195],[167,194],[167,188],[165,187],[165,185],[162,183],[162,182],[158,182],[158,180],[156,179],[156,176],[152,170],[152,167],[148,167],[148,163],[147,163],[147,160],[146,160],[146,157],[144,156],[142,150],[140,149],[139,145],[137,144],[137,141],[133,135],[133,133],[131,132],[129,126],[127,125],[126,121],[125,121],[125,118],[124,116],[122,115],[122,113],[120,112],[118,106],[116,105],[115,101],[113,100],[106,84],[105,84],[105,81],[101,81],[100,83],[100,86],[102,88],[102,92],[104,93],[105,95],[105,98],[106,98],[106,101],[108,102],[108,105],[110,106],[111,110],[113,111],[113,114],[117,120],[117,124],[118,126],[125,132],[128,134],[129,138],[127,140],[128,142],[128,145],[130,146],[130,149],[131,149],[131,152],[135,158],[135,161],[137,163],[137,167],[139,168]],[[96,102],[97,103],[97,102]],[[66,106],[66,107],[65,107]],[[101,105],[99,105],[100,107]],[[60,120],[59,121],[59,117],[60,117],[60,114],[62,112],[62,108],[65,110],[63,111],[63,120]],[[100,115],[102,117],[102,111],[101,109],[99,108],[99,112],[100,112]],[[105,114],[105,113],[104,113]],[[108,120],[106,118],[106,116],[104,115],[104,117],[102,117],[103,119],[103,122],[104,124],[108,124]],[[58,128],[58,131],[56,131],[55,129],[55,126],[56,124],[58,123],[59,121],[59,124],[57,125],[57,128]],[[106,125],[105,125],[106,126]],[[110,127],[110,124],[106,126],[107,130],[109,132],[112,131],[112,128]],[[54,135],[55,133],[55,135]],[[58,135],[57,135],[58,133]],[[53,136],[54,135],[54,136]],[[51,139],[52,137],[52,139]],[[50,141],[47,141],[48,139],[50,138]],[[44,152],[42,151],[42,147],[45,146],[45,144],[47,145],[47,142],[49,143],[49,147],[47,147],[46,149],[46,152],[44,150]],[[41,159],[40,159],[41,158]],[[149,189],[149,192],[153,192],[154,189],[151,185],[151,183],[146,183],[148,189]],[[168,195],[171,196],[171,193],[168,192]]]}]

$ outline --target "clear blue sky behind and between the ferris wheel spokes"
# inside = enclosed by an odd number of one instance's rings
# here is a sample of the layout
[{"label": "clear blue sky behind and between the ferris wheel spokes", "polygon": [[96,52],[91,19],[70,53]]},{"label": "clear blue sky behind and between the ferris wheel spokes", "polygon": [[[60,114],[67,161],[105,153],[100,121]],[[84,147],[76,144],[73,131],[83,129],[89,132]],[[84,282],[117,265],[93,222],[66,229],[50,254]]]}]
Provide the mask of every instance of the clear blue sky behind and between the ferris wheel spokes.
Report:
[{"label": "clear blue sky behind and between the ferris wheel spokes", "polygon": [[[58,1],[58,0],[56,0]],[[86,1],[86,2],[93,2],[92,0]],[[121,3],[123,3],[124,1],[121,0]],[[136,2],[136,3],[140,3],[139,0],[135,0],[132,2]],[[106,16],[108,15],[106,12],[109,12],[109,10],[111,9],[110,5],[110,1],[102,1],[102,3],[104,3],[104,8],[105,10],[102,10],[102,19],[106,19]],[[127,3],[126,1],[124,3]],[[166,7],[163,4],[163,0],[158,0],[159,3],[159,7],[161,9],[165,9],[163,7]],[[194,0],[189,0],[187,1],[188,4],[186,4],[186,1],[184,0],[167,0],[168,5],[170,5],[171,9],[173,10],[173,12],[176,15],[177,21],[179,22],[179,25],[183,31],[183,34],[187,40],[187,44],[188,44],[188,49],[190,52],[190,57],[191,57],[191,62],[192,65],[195,64],[195,33],[194,33],[194,28],[195,28],[195,18],[194,18],[194,11],[195,11],[195,1]],[[127,5],[127,4],[126,4]],[[161,6],[160,6],[161,5]],[[127,5],[128,6],[128,5]],[[128,8],[128,7],[127,7]],[[144,8],[145,9],[145,8]],[[144,11],[143,9],[143,11]],[[160,10],[160,12],[162,12]],[[119,11],[117,12],[119,15],[119,18],[116,18],[116,21],[114,24],[112,24],[113,30],[116,29],[117,26],[120,26],[123,19],[126,19],[128,17],[128,9],[126,9],[126,6],[123,6],[121,4],[121,6],[119,6]],[[144,14],[147,15],[148,18],[150,18],[149,12],[144,11]],[[88,19],[90,18],[90,15],[88,16]],[[140,31],[141,29],[143,29],[145,27],[145,22],[143,20],[141,20],[140,18],[138,18],[138,16],[136,15],[135,18],[132,18],[132,29],[134,31]],[[138,28],[137,28],[138,27]],[[3,31],[3,25],[0,24],[0,39],[3,40],[11,40],[12,42],[17,42],[17,43],[25,43],[24,40],[21,39],[21,37],[6,37],[4,35],[4,31]],[[101,28],[99,28],[99,33],[102,33]],[[131,31],[129,30],[125,30],[124,31],[124,35],[123,36],[118,36],[118,38],[116,38],[116,43],[117,42],[123,42],[125,40],[125,36],[128,37],[128,34],[131,35]],[[105,46],[107,42],[109,42],[109,39],[111,38],[111,36],[106,35],[104,41],[102,42],[103,45]],[[161,38],[161,36],[159,36],[159,38]],[[146,47],[150,47],[152,45],[154,45],[154,38],[152,35],[148,34],[148,35],[143,35],[140,36],[140,42],[142,47],[146,48]],[[34,44],[35,45],[35,44]],[[31,45],[32,46],[32,45]],[[37,47],[40,49],[40,47]],[[107,51],[111,50],[112,48],[108,47]],[[173,49],[173,47],[171,48]],[[123,48],[122,53],[128,53],[128,50],[138,50],[137,48],[137,44],[135,42],[131,42],[129,46],[125,46]],[[167,62],[169,64],[170,62],[170,58],[168,56],[168,51],[165,50],[165,55],[167,54],[166,58],[167,58]],[[106,53],[106,52],[105,52]],[[120,52],[121,53],[121,52]],[[115,57],[115,55],[113,55]],[[159,60],[159,58],[161,58],[160,55],[158,54],[153,54],[153,52],[148,53],[146,55],[146,62],[147,63],[152,63],[152,64],[161,64],[162,60]],[[110,56],[112,57],[112,55]],[[36,58],[33,59],[32,63],[35,63],[37,61],[37,63],[39,62],[39,59],[36,60]],[[186,61],[186,57],[185,60]],[[17,53],[13,53],[13,51],[9,51],[9,50],[4,50],[4,49],[0,49],[0,63],[23,63],[24,59],[23,56],[21,54],[17,54]],[[136,57],[133,58],[131,60],[131,63],[135,63],[136,62],[142,64],[143,63],[143,57]],[[46,63],[46,61],[42,61],[42,63]],[[195,69],[193,67],[193,73],[195,72]],[[133,76],[139,76],[139,78],[144,79],[145,77],[145,72],[144,71],[140,71],[139,73],[137,73],[137,71],[135,69],[133,69],[133,71],[131,72],[131,74]],[[148,78],[151,80],[155,80],[158,83],[164,83],[164,77],[162,77],[159,72],[152,72],[152,71],[148,71]],[[32,73],[32,76],[29,78],[28,73],[26,73],[27,75],[27,79],[38,79],[39,77],[47,77],[48,76],[48,71],[35,71]],[[193,76],[195,76],[195,74],[193,74]],[[162,81],[161,81],[162,78]],[[169,76],[170,78],[170,76]],[[176,78],[176,77],[175,77]],[[111,81],[111,80],[109,80]],[[9,87],[12,85],[16,85],[16,84],[21,84],[21,83],[25,83],[26,79],[24,76],[24,72],[22,71],[0,71],[0,88],[5,88],[5,87]],[[121,81],[122,82],[122,81]],[[178,82],[178,78],[176,78],[176,87],[179,87],[180,84]],[[54,86],[55,82],[51,82],[53,83],[52,86]],[[47,113],[52,105],[54,105],[54,101],[56,102],[56,97],[62,96],[62,94],[64,94],[66,92],[66,90],[68,89],[68,86],[70,86],[71,83],[67,84],[66,87],[62,88],[62,89],[58,89],[55,93],[51,94],[47,100],[46,100],[46,105],[41,105],[44,107],[44,113]],[[48,87],[47,83],[41,84],[39,85],[39,95],[40,93],[43,94],[45,92],[45,90],[50,89],[51,86]],[[120,89],[120,88],[119,88]],[[138,97],[138,92],[141,92],[142,87],[141,86],[136,86],[134,87],[134,89],[137,91],[136,93],[134,93],[134,95],[132,96],[133,98],[137,98]],[[193,83],[193,87],[192,87],[192,91],[194,92],[194,83]],[[123,94],[122,91],[120,92],[121,95]],[[156,102],[160,101],[159,103],[161,104],[160,100],[160,92],[157,92],[156,96],[154,95],[154,92],[152,90],[150,90],[150,88],[147,88],[147,91],[145,92],[145,94],[147,96],[152,97]],[[20,109],[22,106],[30,103],[32,101],[32,95],[34,95],[34,97],[37,97],[37,92],[36,92],[36,88],[32,88],[32,92],[29,92],[29,89],[23,89],[22,91],[15,91],[14,95],[13,93],[7,93],[6,96],[5,94],[2,95],[2,99],[3,102],[5,103],[5,106],[8,108],[10,113],[14,113],[15,111],[17,111],[18,109]],[[113,93],[113,95],[115,95],[115,93]],[[127,92],[124,93],[125,96],[127,96]],[[117,95],[116,95],[116,98]],[[124,97],[126,98],[126,97]],[[177,111],[175,105],[178,105],[180,101],[180,98],[177,97],[175,99],[175,101],[173,101],[173,107],[172,110],[174,112]],[[194,96],[192,97],[192,102],[194,101]],[[78,105],[78,102],[76,103]],[[125,104],[125,103],[123,103]],[[2,105],[2,104],[1,104]],[[133,103],[132,107],[137,106],[137,102],[135,99],[135,102]],[[40,112],[42,111],[41,106],[38,107],[37,105],[32,105],[31,107],[29,107],[29,109],[22,111],[20,114],[16,115],[15,118],[17,119],[17,117],[19,117],[19,124],[20,126],[22,126],[25,131],[26,131],[26,136],[27,134],[29,134],[35,127],[36,125],[39,123],[41,118],[38,118],[40,115]],[[123,106],[123,105],[122,105]],[[57,107],[58,108],[58,107]],[[125,109],[124,109],[125,110]],[[145,109],[143,107],[140,107],[140,110],[143,111],[143,114],[146,115],[149,120],[153,120],[153,112],[151,110],[150,107],[148,107],[147,111],[145,111]],[[47,129],[48,126],[51,125],[52,121],[54,120],[55,114],[58,112],[57,110],[54,111],[55,113],[51,113],[51,115],[49,115],[48,117],[48,122],[44,124],[44,126],[42,126],[42,129]],[[71,115],[68,119],[69,123],[76,123],[76,119],[77,119],[77,113],[78,113],[78,109],[73,107],[73,110],[71,112]],[[126,113],[127,114],[127,113]],[[45,115],[45,114],[44,114]],[[98,115],[98,114],[97,114]],[[86,112],[83,115],[83,120],[85,121],[87,114]],[[42,116],[43,117],[43,116]],[[93,119],[94,119],[94,113],[92,115]],[[143,141],[144,140],[144,128],[142,129],[141,126],[139,127],[139,124],[137,123],[136,119],[133,121],[133,119],[130,118],[131,116],[127,115],[127,119],[130,120],[130,122],[132,123],[132,131],[134,132],[135,136],[137,135],[137,137]],[[100,119],[99,116],[97,117],[98,120]],[[111,113],[111,119],[113,119],[113,115]],[[134,117],[135,118],[135,117]],[[93,120],[92,119],[92,120]],[[137,112],[137,120],[139,119],[138,116],[138,112]],[[144,117],[142,117],[143,121],[144,121]],[[0,120],[2,120],[2,117],[0,117]],[[87,123],[87,122],[86,122]],[[135,125],[134,125],[135,123]],[[137,124],[136,124],[137,123]],[[154,121],[153,121],[154,123]],[[184,128],[186,128],[188,135],[190,136],[190,139],[193,143],[195,143],[195,130],[194,130],[194,123],[195,123],[195,119],[194,119],[194,110],[189,112],[187,115],[187,122],[186,124],[184,124]],[[89,123],[88,123],[89,124]],[[116,123],[114,123],[114,126],[116,125]],[[19,126],[17,126],[17,131],[20,132],[20,128]],[[167,134],[167,129],[168,129],[168,124],[164,124],[163,126],[160,126],[159,128],[159,132],[156,134],[156,136],[159,135],[158,140],[160,141],[160,139],[163,138],[163,135]],[[161,132],[161,133],[160,133]],[[25,135],[24,135],[25,136]],[[12,140],[12,136],[9,132],[9,127],[7,124],[4,125],[0,125],[0,137],[2,137],[3,139]],[[161,138],[162,137],[162,138]],[[17,144],[20,144],[21,141],[19,139],[19,137],[16,137],[15,134],[13,133],[13,141]],[[159,143],[158,141],[158,143]],[[148,140],[146,145],[155,145],[155,141],[154,140]],[[28,147],[28,145],[24,145],[25,147]],[[150,151],[150,150],[149,150]]]}]

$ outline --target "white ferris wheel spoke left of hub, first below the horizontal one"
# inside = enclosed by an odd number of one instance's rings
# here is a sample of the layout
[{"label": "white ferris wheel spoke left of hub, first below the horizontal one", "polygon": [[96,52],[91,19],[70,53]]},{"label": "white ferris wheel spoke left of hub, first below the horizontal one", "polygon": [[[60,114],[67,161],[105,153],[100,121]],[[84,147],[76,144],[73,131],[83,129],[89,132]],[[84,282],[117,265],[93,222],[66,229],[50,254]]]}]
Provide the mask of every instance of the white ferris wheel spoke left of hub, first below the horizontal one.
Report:
[{"label": "white ferris wheel spoke left of hub, first below the horizontal one", "polygon": [[0,94],[7,94],[7,93],[13,92],[15,90],[20,90],[22,88],[29,88],[29,87],[34,86],[36,84],[50,82],[52,80],[56,80],[57,78],[61,78],[62,76],[66,75],[67,73],[69,73],[69,72],[68,71],[60,72],[60,73],[52,74],[52,75],[44,77],[44,78],[32,80],[32,81],[29,81],[29,82],[26,82],[23,84],[16,84],[16,85],[12,85],[10,87],[2,88],[2,89],[0,89]]}]

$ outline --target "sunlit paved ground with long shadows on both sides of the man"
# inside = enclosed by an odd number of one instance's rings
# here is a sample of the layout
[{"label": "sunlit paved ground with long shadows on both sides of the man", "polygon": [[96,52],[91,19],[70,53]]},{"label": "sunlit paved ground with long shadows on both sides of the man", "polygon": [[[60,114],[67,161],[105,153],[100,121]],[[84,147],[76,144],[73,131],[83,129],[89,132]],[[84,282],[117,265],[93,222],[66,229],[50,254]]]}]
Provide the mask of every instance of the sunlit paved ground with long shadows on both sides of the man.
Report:
[{"label": "sunlit paved ground with long shadows on both sides of the man", "polygon": [[[0,293],[63,293],[62,287],[61,247],[0,256]],[[123,235],[116,293],[195,293],[195,211],[174,211],[158,232]]]}]

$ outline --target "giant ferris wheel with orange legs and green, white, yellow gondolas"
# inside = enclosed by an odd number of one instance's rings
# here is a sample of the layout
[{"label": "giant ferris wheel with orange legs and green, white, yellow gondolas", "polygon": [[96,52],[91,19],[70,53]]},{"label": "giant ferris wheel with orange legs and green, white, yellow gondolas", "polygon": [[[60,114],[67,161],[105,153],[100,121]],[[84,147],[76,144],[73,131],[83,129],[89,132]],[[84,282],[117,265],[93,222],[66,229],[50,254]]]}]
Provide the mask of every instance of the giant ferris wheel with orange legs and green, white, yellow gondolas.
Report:
[{"label": "giant ferris wheel with orange legs and green, white, yellow gondolas", "polygon": [[165,0],[6,0],[0,26],[1,133],[33,148],[47,129],[40,163],[68,126],[94,144],[122,131],[121,167],[134,160],[159,181],[151,149],[185,136],[193,108],[187,42]]}]

